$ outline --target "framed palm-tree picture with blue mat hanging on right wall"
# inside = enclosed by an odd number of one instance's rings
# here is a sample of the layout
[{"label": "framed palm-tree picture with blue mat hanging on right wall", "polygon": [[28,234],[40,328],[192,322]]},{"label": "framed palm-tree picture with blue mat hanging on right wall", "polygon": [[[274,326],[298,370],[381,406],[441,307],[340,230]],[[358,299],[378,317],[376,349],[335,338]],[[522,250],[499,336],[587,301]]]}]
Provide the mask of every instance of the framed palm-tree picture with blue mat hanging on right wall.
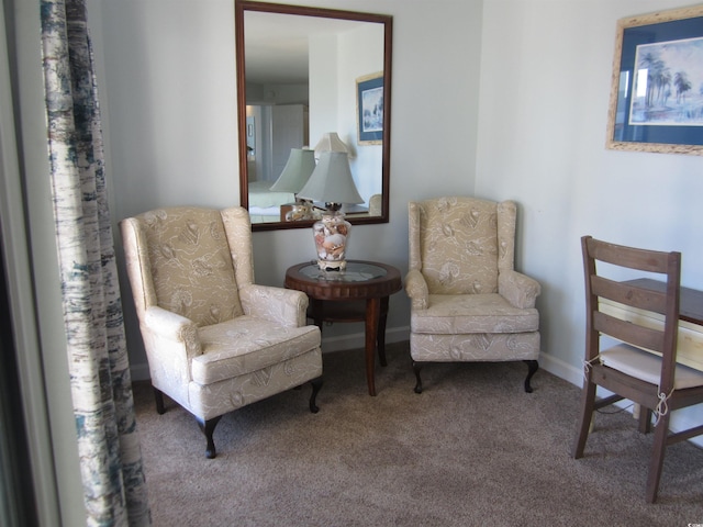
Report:
[{"label": "framed palm-tree picture with blue mat hanging on right wall", "polygon": [[703,155],[703,5],[617,22],[606,147]]}]

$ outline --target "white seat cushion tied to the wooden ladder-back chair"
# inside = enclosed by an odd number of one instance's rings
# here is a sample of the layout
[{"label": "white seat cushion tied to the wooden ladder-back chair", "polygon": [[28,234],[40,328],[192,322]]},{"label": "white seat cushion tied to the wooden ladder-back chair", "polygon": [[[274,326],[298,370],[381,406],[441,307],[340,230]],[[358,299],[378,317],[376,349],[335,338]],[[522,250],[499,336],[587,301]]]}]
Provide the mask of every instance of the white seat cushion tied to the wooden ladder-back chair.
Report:
[{"label": "white seat cushion tied to the wooden ladder-back chair", "polygon": [[[627,375],[651,384],[659,384],[661,357],[658,355],[626,344],[618,344],[601,351],[601,362]],[[682,390],[701,385],[703,385],[703,371],[677,365],[674,389]]]}]

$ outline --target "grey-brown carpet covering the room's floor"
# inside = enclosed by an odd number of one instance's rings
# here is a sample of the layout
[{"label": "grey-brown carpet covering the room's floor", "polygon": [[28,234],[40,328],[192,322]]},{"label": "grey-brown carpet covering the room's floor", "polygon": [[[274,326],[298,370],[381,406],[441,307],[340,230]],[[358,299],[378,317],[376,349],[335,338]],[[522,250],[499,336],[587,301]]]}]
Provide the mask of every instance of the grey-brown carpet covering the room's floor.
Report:
[{"label": "grey-brown carpet covering the room's floor", "polygon": [[659,500],[645,503],[651,435],[599,415],[573,460],[580,391],[525,365],[425,367],[413,392],[408,343],[389,346],[368,395],[360,350],[324,356],[310,386],[222,418],[217,458],[194,419],[148,383],[134,396],[156,526],[685,526],[703,523],[703,450],[669,447]]}]

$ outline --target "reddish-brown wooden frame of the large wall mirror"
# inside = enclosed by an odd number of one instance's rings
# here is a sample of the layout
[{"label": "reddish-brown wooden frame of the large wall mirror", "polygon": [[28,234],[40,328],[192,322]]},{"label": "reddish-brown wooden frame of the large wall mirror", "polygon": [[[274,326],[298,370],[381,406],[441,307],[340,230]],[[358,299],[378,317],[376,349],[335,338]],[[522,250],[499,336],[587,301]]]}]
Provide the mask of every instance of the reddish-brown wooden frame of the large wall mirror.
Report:
[{"label": "reddish-brown wooden frame of the large wall mirror", "polygon": [[[258,11],[278,14],[293,14],[302,16],[319,16],[358,22],[373,22],[383,24],[383,135],[381,155],[381,214],[379,216],[348,215],[346,220],[354,225],[388,223],[390,201],[390,145],[391,145],[391,56],[392,56],[392,16],[383,14],[344,11],[335,9],[310,8],[281,3],[266,3],[250,0],[235,0],[234,22],[236,37],[236,76],[237,76],[237,131],[239,149],[239,203],[249,208],[249,182],[246,145],[246,79],[244,51],[244,13]],[[310,227],[314,222],[270,222],[253,223],[253,231],[277,231],[287,228]]]}]

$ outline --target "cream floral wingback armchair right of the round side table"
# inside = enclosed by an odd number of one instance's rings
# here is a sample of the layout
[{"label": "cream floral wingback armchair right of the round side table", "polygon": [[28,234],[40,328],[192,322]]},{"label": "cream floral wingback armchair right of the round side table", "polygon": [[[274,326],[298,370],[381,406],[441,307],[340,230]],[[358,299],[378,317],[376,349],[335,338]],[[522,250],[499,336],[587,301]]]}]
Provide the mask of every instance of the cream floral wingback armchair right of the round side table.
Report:
[{"label": "cream floral wingback armchair right of the round side table", "polygon": [[438,198],[409,204],[410,354],[422,392],[423,362],[527,363],[538,369],[539,284],[514,270],[513,201]]}]

